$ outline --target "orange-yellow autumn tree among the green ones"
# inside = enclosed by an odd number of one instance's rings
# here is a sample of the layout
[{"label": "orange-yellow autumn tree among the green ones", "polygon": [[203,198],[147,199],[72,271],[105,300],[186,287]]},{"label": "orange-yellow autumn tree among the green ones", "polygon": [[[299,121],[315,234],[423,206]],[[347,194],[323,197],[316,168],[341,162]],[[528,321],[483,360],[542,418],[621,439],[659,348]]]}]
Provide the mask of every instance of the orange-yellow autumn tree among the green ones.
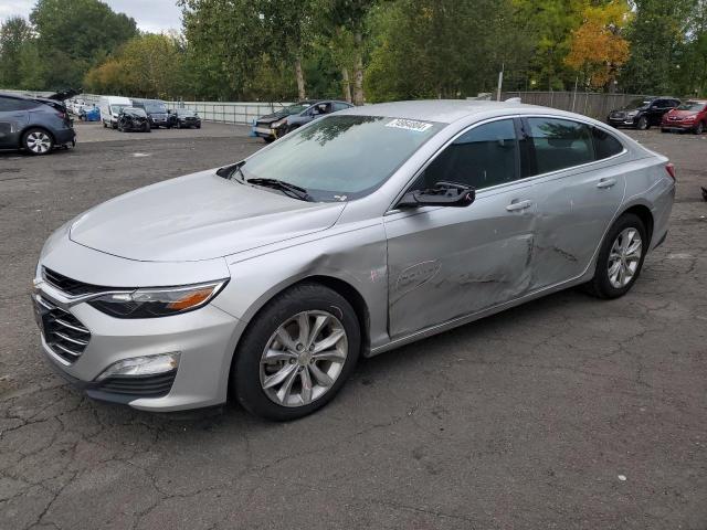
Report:
[{"label": "orange-yellow autumn tree among the green ones", "polygon": [[572,32],[564,63],[593,88],[612,82],[629,60],[629,41],[623,30],[631,19],[626,0],[611,0],[584,9],[582,24]]}]

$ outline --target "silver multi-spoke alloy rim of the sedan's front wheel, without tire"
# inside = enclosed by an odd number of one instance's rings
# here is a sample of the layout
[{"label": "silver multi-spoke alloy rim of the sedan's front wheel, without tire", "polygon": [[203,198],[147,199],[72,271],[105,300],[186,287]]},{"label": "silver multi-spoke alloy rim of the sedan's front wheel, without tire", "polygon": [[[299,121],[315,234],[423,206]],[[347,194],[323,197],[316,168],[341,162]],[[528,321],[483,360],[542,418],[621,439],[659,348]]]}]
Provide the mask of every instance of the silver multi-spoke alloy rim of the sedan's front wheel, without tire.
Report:
[{"label": "silver multi-spoke alloy rim of the sedan's front wheel, without tire", "polygon": [[326,394],[348,357],[341,321],[327,311],[295,315],[271,336],[261,356],[261,388],[274,403],[305,406]]}]

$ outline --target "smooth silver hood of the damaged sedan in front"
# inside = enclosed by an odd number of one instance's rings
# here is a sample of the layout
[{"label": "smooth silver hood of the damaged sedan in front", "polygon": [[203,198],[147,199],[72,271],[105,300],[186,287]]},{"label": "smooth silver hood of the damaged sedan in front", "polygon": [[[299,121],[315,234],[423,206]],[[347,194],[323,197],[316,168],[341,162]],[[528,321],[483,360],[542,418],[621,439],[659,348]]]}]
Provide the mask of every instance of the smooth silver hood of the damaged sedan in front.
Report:
[{"label": "smooth silver hood of the damaged sedan in front", "polygon": [[326,230],[344,208],[299,201],[210,170],[99,204],[73,223],[70,237],[129,259],[211,259]]}]

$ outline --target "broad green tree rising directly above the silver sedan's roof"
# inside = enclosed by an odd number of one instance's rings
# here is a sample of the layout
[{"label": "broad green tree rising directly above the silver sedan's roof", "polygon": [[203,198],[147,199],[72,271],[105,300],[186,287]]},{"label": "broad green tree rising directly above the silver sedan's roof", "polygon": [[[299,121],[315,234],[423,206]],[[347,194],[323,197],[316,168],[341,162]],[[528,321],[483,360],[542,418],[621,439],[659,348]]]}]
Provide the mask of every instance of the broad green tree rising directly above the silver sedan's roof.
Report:
[{"label": "broad green tree rising directly above the silver sedan's roof", "polygon": [[390,100],[490,92],[504,65],[518,70],[531,52],[514,21],[506,0],[399,0],[377,10],[367,94]]}]

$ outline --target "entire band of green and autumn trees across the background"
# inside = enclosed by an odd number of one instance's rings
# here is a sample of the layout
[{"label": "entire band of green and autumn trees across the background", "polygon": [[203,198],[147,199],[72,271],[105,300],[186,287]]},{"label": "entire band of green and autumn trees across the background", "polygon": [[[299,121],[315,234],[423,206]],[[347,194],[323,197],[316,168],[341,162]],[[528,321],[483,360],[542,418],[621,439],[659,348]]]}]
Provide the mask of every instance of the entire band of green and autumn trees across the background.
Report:
[{"label": "entire band of green and autumn trees across the background", "polygon": [[362,103],[494,92],[504,68],[508,89],[707,92],[707,0],[175,1],[181,35],[36,0],[0,26],[0,87]]}]

